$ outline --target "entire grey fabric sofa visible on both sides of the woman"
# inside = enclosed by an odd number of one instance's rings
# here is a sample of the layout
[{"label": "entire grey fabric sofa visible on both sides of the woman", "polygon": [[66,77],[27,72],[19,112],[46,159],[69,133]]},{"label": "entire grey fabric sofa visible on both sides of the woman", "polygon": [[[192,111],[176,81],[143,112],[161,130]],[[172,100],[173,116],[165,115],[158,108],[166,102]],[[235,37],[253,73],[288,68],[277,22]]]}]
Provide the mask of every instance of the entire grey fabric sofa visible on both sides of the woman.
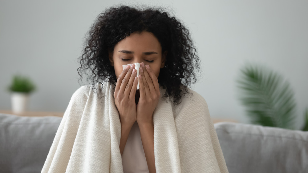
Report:
[{"label": "entire grey fabric sofa visible on both sides of the woman", "polygon": [[[60,117],[0,114],[0,173],[40,172]],[[229,173],[307,173],[308,132],[214,124]]]}]

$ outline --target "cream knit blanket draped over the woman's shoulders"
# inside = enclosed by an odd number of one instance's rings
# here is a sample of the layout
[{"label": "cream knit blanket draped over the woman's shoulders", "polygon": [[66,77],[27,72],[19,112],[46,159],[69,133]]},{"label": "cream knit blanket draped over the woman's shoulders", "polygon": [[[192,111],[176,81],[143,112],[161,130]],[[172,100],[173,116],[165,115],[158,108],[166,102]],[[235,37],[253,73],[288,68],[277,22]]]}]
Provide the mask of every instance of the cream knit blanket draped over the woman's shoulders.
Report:
[{"label": "cream knit blanket draped over the woman's shoulders", "polygon": [[[123,172],[114,90],[109,83],[103,84],[105,96],[101,99],[90,86],[73,94],[42,173]],[[201,95],[191,92],[193,95],[183,96],[178,106],[162,98],[156,106],[156,172],[228,172],[208,106]]]}]

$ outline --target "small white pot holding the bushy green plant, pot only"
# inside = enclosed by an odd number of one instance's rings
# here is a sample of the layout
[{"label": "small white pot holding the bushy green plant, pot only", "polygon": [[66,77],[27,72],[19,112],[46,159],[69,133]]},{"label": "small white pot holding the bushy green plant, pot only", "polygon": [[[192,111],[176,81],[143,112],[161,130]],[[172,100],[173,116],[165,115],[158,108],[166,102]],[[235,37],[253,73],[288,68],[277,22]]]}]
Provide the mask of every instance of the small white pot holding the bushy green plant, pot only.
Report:
[{"label": "small white pot holding the bushy green plant, pot only", "polygon": [[11,106],[13,113],[22,113],[28,108],[29,94],[13,92],[11,95]]}]

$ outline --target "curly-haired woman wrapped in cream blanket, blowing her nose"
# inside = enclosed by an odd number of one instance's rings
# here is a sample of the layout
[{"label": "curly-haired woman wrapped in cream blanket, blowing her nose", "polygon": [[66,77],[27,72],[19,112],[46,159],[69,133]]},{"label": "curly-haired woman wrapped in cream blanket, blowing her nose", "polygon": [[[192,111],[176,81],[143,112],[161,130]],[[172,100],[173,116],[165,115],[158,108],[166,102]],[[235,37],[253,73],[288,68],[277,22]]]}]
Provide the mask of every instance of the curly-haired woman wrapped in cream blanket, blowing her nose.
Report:
[{"label": "curly-haired woman wrapped in cream blanket, blowing her nose", "polygon": [[91,85],[73,94],[42,172],[228,172],[207,104],[189,89],[199,58],[177,18],[112,7],[86,44],[78,73]]}]

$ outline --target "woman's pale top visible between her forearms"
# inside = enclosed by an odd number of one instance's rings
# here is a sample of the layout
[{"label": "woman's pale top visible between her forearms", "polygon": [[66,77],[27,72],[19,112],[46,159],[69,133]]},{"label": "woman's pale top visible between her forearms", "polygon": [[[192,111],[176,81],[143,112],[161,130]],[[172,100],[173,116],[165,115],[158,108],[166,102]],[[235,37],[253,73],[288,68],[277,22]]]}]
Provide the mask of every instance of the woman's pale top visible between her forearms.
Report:
[{"label": "woman's pale top visible between her forearms", "polygon": [[122,154],[122,164],[124,173],[149,172],[137,121],[129,132]]}]

